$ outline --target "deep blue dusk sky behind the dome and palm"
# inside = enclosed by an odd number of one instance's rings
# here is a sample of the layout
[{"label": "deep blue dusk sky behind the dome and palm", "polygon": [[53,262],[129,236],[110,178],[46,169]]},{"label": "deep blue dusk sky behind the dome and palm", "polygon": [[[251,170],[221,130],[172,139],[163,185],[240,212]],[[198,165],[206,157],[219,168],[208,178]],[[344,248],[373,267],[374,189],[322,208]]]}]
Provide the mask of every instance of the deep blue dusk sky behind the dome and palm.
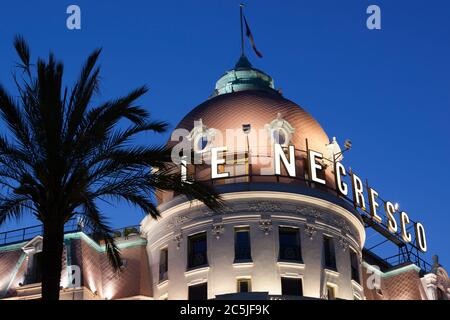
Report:
[{"label": "deep blue dusk sky behind the dome and palm", "polygon": [[[66,28],[66,8],[81,7],[81,30]],[[102,47],[101,96],[143,84],[141,99],[172,128],[212,92],[239,57],[239,1],[8,1],[0,10],[0,83],[13,89],[13,36],[33,57],[49,50],[70,84],[87,55]],[[400,203],[427,230],[429,255],[450,267],[450,3],[448,1],[247,1],[258,49],[255,67],[285,97],[310,112],[330,137],[353,148],[344,164]],[[366,28],[366,8],[381,7],[382,29]],[[4,129],[4,128],[1,128]],[[2,130],[3,131],[3,130]],[[159,144],[166,135],[140,143]],[[115,227],[139,224],[125,205],[104,207]],[[0,231],[36,224],[10,222]],[[369,243],[382,238],[368,231]],[[375,242],[373,242],[375,241]],[[383,249],[384,250],[384,249]],[[386,249],[386,252],[388,249]]]}]

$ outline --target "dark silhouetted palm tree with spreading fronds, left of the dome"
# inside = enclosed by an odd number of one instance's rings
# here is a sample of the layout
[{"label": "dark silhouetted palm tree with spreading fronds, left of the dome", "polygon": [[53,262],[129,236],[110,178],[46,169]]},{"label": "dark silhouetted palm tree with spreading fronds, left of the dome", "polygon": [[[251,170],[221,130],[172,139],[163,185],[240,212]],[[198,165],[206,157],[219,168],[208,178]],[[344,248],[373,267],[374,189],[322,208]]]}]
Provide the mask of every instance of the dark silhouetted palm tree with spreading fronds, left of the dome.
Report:
[{"label": "dark silhouetted palm tree with spreading fronds, left of the dome", "polygon": [[92,106],[101,50],[88,57],[68,89],[63,87],[63,64],[53,54],[32,65],[21,36],[15,37],[14,47],[22,71],[20,77],[14,74],[18,95],[0,85],[0,116],[7,130],[0,135],[0,224],[26,213],[42,222],[43,299],[59,299],[64,224],[76,214],[100,235],[112,266],[120,270],[120,251],[99,200],[126,201],[154,218],[159,212],[152,199],[160,190],[184,194],[214,210],[222,206],[212,187],[181,181],[170,150],[133,144],[138,134],[167,128],[136,104],[145,87]]}]

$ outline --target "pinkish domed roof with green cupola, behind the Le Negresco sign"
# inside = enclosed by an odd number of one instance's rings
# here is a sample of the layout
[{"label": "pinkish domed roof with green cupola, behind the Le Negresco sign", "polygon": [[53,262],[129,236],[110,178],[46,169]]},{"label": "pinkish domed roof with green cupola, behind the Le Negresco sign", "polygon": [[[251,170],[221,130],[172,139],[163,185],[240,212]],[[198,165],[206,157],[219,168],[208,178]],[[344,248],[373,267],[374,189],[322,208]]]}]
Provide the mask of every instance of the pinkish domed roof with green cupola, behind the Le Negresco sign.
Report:
[{"label": "pinkish domed roof with green cupola, behind the Le Negresco sign", "polygon": [[[195,162],[195,158],[189,158],[189,179],[211,181],[211,166],[208,165],[211,154],[207,151],[212,147],[227,147],[227,161],[220,170],[230,175],[216,180],[215,184],[238,186],[249,179],[252,183],[304,184],[306,150],[321,152],[325,158],[329,156],[327,145],[330,140],[320,124],[298,104],[275,90],[273,79],[253,68],[245,56],[241,56],[235,68],[217,81],[214,94],[189,112],[176,129],[184,129],[175,136],[187,137],[194,155],[201,155],[200,158],[206,161]],[[180,141],[169,141],[168,145],[173,147]],[[286,179],[284,169],[282,180],[274,177],[274,141],[284,147],[295,147],[298,179]],[[186,145],[182,145],[185,148]],[[186,156],[185,149],[179,150],[180,156]],[[248,161],[242,162],[244,158]],[[332,188],[334,180],[329,164],[325,164],[325,177],[327,187]],[[171,193],[166,192],[160,200],[165,202],[171,198]]]}]

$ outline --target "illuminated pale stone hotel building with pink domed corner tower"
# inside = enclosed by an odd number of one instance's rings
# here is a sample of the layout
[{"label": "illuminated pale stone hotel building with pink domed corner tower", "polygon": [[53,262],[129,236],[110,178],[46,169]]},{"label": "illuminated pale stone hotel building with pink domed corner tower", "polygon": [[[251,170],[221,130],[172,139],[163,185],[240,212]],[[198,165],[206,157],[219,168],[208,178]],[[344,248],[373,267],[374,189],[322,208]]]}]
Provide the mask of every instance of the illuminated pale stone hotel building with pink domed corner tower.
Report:
[{"label": "illuminated pale stone hotel building with pink domed corner tower", "polygon": [[[160,219],[146,217],[139,226],[117,231],[120,273],[112,270],[104,245],[82,220],[71,221],[64,240],[61,299],[450,298],[450,280],[437,257],[427,265],[409,252],[393,263],[365,249],[366,228],[374,226],[336,192],[332,163],[342,159],[336,140],[245,56],[177,129],[187,133],[196,155],[207,158],[211,148],[227,147],[224,157],[232,161],[217,168],[188,164],[184,172],[187,179],[213,184],[226,206],[213,212],[184,196],[161,192]],[[219,139],[230,129],[243,144]],[[264,171],[273,169],[274,142],[295,146],[296,177],[285,167],[278,173]],[[324,185],[308,178],[307,150],[325,155]],[[215,169],[220,177],[211,179]],[[0,234],[0,299],[40,297],[40,269],[45,267],[40,264],[40,230]]]}]

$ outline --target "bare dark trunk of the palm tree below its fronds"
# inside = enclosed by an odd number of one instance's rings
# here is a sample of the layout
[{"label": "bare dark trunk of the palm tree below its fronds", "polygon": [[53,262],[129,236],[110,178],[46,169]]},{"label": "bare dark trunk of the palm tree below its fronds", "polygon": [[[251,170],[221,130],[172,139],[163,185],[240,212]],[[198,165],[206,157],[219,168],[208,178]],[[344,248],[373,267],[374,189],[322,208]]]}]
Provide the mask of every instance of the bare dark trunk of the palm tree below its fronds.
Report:
[{"label": "bare dark trunk of the palm tree below its fronds", "polygon": [[42,299],[59,300],[64,223],[46,221],[42,247]]}]

